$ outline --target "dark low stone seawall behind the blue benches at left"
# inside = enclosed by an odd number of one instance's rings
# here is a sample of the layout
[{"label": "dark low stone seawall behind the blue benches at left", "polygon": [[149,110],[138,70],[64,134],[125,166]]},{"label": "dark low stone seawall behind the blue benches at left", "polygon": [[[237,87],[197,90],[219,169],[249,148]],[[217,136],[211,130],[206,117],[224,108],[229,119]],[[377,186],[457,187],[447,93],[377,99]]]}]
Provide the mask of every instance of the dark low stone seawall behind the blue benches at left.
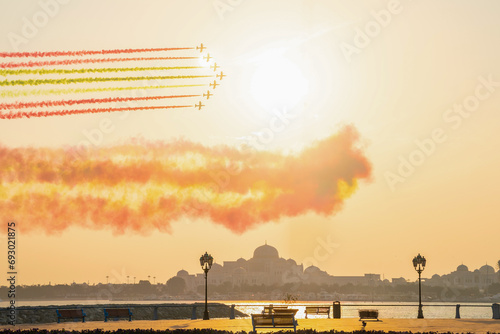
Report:
[{"label": "dark low stone seawall behind the blue benches at left", "polygon": [[[56,309],[82,309],[86,314],[85,321],[103,321],[105,308],[129,308],[134,320],[161,320],[161,319],[191,319],[193,308],[196,307],[196,318],[203,318],[205,305],[195,304],[99,304],[99,305],[64,305],[64,306],[23,306],[16,309],[16,324],[39,324],[57,322]],[[0,324],[9,323],[9,309],[0,310]],[[209,303],[210,318],[228,318],[231,307],[220,303]],[[235,310],[235,317],[247,315]],[[70,319],[62,321],[72,321]],[[110,320],[111,321],[111,320]]]}]

